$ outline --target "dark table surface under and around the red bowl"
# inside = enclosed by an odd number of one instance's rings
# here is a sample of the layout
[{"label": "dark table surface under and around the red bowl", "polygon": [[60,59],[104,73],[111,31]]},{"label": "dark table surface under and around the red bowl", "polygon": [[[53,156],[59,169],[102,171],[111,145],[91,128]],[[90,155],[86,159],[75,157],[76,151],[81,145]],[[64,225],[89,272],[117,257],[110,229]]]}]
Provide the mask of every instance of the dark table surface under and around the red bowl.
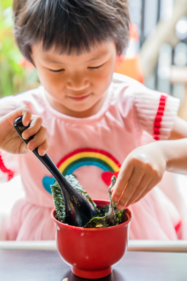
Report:
[{"label": "dark table surface under and around the red bowl", "polygon": [[[1,281],[85,281],[57,251],[0,250]],[[126,252],[101,281],[187,281],[187,253]]]}]

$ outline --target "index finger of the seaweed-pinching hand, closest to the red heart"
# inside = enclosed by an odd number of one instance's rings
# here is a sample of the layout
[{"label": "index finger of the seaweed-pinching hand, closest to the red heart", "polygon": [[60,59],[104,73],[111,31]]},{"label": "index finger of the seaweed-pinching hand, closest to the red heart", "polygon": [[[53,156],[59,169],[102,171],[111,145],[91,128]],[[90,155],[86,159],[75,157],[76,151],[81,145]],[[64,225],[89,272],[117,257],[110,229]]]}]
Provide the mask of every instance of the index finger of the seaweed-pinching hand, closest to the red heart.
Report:
[{"label": "index finger of the seaweed-pinching hand, closest to the red heart", "polygon": [[121,167],[121,170],[119,171],[118,177],[116,179],[116,183],[113,187],[113,192],[111,196],[113,202],[117,202],[121,197],[121,194],[124,188],[126,188],[126,185],[129,182],[132,173],[133,173],[132,167],[129,166],[127,166],[126,168]]}]

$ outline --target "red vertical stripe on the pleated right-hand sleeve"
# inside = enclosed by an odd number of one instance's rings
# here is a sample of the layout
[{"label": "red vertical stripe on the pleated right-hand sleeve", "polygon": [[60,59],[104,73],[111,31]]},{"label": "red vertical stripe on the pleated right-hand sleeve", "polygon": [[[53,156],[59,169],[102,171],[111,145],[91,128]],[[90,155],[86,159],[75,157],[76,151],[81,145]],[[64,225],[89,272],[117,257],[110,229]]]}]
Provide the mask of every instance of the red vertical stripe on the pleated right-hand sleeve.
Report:
[{"label": "red vertical stripe on the pleated right-hand sleeve", "polygon": [[158,106],[157,114],[155,116],[155,122],[154,122],[154,127],[153,127],[153,138],[156,141],[160,140],[160,138],[159,138],[160,128],[161,128],[162,116],[164,114],[166,99],[167,99],[167,95],[162,95],[160,97],[160,103]]}]

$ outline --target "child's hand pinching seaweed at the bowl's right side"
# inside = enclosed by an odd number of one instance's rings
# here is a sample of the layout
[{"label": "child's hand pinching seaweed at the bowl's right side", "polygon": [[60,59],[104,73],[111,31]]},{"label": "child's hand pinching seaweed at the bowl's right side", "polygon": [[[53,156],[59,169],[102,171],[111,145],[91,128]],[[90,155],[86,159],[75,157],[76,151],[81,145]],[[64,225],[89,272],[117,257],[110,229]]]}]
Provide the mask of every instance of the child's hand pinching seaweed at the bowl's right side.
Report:
[{"label": "child's hand pinching seaweed at the bowl's right side", "polygon": [[162,179],[166,159],[156,142],[140,146],[126,157],[113,187],[119,210],[139,201]]}]

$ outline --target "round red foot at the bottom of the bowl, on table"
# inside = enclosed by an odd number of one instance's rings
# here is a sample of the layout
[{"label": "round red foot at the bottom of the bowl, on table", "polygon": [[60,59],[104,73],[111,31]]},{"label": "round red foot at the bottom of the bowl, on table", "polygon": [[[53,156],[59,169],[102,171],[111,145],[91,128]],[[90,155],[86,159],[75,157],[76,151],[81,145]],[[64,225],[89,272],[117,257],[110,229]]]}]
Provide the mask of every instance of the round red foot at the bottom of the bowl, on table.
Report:
[{"label": "round red foot at the bottom of the bowl, on table", "polygon": [[86,279],[97,279],[108,276],[112,272],[112,267],[101,270],[84,270],[75,267],[71,267],[71,271],[78,277]]}]

